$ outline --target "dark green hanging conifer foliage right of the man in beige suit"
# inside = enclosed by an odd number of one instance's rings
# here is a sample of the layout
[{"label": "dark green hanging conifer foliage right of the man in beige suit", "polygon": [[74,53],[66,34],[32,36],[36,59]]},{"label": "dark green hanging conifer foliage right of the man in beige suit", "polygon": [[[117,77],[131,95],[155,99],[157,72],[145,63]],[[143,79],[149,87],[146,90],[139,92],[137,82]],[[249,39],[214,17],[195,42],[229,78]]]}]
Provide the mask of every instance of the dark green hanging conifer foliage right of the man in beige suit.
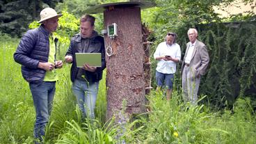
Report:
[{"label": "dark green hanging conifer foliage right of the man in beige suit", "polygon": [[218,107],[237,97],[256,93],[255,22],[214,23],[198,26],[200,39],[207,45],[210,64],[202,78],[200,93]]}]

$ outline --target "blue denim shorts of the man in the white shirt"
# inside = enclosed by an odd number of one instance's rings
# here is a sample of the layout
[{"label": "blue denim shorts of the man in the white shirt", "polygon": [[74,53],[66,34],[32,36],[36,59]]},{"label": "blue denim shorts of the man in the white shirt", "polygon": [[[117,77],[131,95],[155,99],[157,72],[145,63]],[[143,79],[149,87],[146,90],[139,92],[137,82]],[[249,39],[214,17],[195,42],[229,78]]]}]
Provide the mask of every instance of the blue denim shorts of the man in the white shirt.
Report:
[{"label": "blue denim shorts of the man in the white shirt", "polygon": [[[161,87],[165,84],[168,90],[173,89],[173,74],[163,74],[156,71],[157,86]],[[163,84],[164,83],[164,84]]]}]

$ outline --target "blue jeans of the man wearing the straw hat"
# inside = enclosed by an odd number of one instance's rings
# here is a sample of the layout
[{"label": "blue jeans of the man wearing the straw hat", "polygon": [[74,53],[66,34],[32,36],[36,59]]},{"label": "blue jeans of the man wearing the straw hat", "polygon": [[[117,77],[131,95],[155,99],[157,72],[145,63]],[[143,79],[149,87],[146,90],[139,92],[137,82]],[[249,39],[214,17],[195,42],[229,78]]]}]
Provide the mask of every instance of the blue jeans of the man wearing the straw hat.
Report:
[{"label": "blue jeans of the man wearing the straw hat", "polygon": [[34,137],[39,138],[39,141],[42,141],[42,136],[45,136],[45,126],[49,121],[56,90],[55,84],[55,81],[44,81],[40,84],[29,83],[36,113]]}]

